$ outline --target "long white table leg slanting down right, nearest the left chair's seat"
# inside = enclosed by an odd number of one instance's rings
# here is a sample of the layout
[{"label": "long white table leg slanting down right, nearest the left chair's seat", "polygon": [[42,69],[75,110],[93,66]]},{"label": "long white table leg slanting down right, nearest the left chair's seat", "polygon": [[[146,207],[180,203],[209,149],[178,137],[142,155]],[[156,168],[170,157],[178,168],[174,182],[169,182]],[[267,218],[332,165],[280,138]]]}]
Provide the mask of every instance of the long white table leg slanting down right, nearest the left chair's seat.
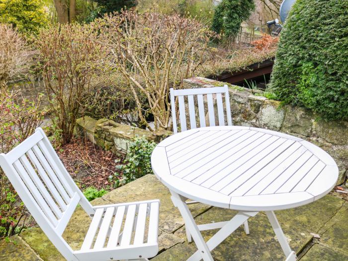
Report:
[{"label": "long white table leg slanting down right, nearest the left chair's seat", "polygon": [[185,221],[185,229],[188,229],[189,233],[191,234],[194,240],[194,243],[197,246],[199,256],[198,260],[203,259],[204,261],[214,261],[213,257],[210,254],[207,244],[205,243],[196,223],[194,222],[194,219],[185,203],[184,198],[182,198],[179,194],[175,193],[172,190],[171,193],[172,201],[174,205],[179,209],[180,214],[183,220]]}]

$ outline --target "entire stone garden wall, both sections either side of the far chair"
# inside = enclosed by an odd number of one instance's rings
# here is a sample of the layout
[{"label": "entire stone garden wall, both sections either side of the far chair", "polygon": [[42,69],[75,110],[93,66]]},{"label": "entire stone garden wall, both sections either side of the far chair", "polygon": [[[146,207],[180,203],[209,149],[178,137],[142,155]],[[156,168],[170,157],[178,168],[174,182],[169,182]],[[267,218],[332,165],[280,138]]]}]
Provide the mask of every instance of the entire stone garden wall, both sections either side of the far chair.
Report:
[{"label": "entire stone garden wall, both sections either side of the far chair", "polygon": [[[216,87],[224,84],[200,77],[184,80],[186,88]],[[281,106],[279,101],[262,96],[260,90],[229,85],[229,93],[234,125],[280,131],[318,145],[336,160],[340,169],[338,184],[345,182],[348,175],[347,121],[327,122],[310,110],[289,105]],[[90,117],[78,119],[77,131],[80,135],[86,135],[95,144],[117,155],[126,155],[129,142],[135,136],[145,136],[148,140],[160,142],[172,134],[164,130],[153,133],[129,125],[121,125],[112,120],[95,120]]]}]

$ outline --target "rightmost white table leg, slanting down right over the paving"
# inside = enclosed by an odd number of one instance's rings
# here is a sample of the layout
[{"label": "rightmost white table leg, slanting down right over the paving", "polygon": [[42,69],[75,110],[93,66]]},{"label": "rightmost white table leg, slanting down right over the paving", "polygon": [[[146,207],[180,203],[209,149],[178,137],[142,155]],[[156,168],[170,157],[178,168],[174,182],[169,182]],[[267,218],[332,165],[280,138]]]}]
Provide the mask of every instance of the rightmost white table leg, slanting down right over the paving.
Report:
[{"label": "rightmost white table leg, slanting down right over the paving", "polygon": [[284,252],[284,255],[286,257],[286,261],[296,261],[297,257],[295,252],[293,252],[289,246],[289,243],[286,240],[286,237],[284,236],[284,233],[279,225],[279,222],[277,220],[277,217],[275,216],[273,211],[265,211],[268,220],[274,230],[275,235],[277,236],[278,242],[281,246],[281,249]]}]

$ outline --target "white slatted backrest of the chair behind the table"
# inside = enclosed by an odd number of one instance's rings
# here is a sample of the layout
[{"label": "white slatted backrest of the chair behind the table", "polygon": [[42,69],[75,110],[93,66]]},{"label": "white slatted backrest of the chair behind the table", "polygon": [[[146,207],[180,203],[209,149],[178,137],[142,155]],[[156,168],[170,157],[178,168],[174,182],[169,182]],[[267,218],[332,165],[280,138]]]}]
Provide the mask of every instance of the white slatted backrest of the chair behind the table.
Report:
[{"label": "white slatted backrest of the chair behind the table", "polygon": [[[199,115],[199,127],[206,127],[205,123],[205,106],[204,101],[207,103],[209,126],[215,126],[215,113],[214,113],[214,100],[216,99],[217,116],[219,120],[219,126],[225,125],[225,114],[223,106],[222,94],[225,96],[225,108],[226,108],[226,122],[227,125],[232,125],[230,98],[228,94],[228,87],[210,87],[210,88],[194,88],[194,89],[173,89],[171,88],[171,105],[172,105],[172,119],[173,119],[173,131],[177,133],[176,111],[175,111],[175,97],[178,98],[179,104],[179,123],[181,131],[187,130],[186,124],[186,111],[185,111],[185,97],[187,96],[188,102],[188,115],[189,125],[191,129],[197,128],[196,125],[196,111],[195,104],[198,105]],[[205,97],[206,96],[206,97]],[[196,98],[195,98],[196,97]],[[204,100],[204,101],[203,101]]]}]

